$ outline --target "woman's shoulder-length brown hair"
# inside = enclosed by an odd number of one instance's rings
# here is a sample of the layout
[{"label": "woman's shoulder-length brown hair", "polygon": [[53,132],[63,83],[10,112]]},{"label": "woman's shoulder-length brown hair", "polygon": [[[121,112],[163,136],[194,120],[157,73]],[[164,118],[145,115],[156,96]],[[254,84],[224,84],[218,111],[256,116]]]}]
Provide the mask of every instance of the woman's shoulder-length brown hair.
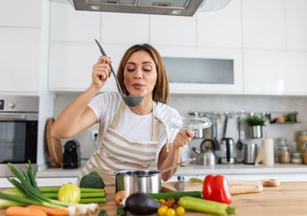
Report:
[{"label": "woman's shoulder-length brown hair", "polygon": [[166,75],[164,62],[158,51],[153,46],[148,44],[131,46],[122,56],[119,69],[117,70],[117,78],[120,81],[120,87],[123,89],[126,95],[129,95],[129,92],[124,84],[124,70],[129,57],[137,51],[145,51],[152,56],[157,69],[157,81],[153,91],[153,100],[167,104],[169,97],[169,81]]}]

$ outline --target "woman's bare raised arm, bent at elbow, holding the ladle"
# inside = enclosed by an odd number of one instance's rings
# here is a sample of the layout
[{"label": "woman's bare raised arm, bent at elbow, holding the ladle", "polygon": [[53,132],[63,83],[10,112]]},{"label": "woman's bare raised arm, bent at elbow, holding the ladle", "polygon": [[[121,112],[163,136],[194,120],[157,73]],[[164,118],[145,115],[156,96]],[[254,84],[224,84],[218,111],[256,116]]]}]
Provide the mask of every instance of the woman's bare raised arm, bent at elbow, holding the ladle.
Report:
[{"label": "woman's bare raised arm, bent at elbow, holding the ladle", "polygon": [[53,137],[72,137],[97,122],[95,112],[88,108],[87,104],[110,77],[109,63],[111,63],[111,59],[108,57],[101,56],[98,59],[98,62],[93,66],[91,86],[73,100],[56,118],[51,129]]}]

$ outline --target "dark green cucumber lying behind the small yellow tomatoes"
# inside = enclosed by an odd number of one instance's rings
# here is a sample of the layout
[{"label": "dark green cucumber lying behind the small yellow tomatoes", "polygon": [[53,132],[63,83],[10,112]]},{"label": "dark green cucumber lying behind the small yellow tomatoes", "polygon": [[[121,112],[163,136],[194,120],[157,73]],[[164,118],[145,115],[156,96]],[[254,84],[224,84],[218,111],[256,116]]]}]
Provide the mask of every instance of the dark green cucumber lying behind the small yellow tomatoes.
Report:
[{"label": "dark green cucumber lying behind the small yellow tomatoes", "polygon": [[150,197],[160,200],[167,200],[168,198],[174,198],[175,200],[180,199],[182,196],[192,196],[197,198],[203,198],[201,191],[186,191],[186,192],[169,192],[169,193],[150,193]]}]

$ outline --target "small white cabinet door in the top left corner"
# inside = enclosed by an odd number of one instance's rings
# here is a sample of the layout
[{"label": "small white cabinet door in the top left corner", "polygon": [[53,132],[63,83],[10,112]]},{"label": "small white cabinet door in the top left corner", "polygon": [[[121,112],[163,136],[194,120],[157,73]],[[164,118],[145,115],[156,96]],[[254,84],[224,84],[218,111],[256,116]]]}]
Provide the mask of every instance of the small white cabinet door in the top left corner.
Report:
[{"label": "small white cabinet door in the top left corner", "polygon": [[41,0],[0,0],[0,27],[41,26]]}]

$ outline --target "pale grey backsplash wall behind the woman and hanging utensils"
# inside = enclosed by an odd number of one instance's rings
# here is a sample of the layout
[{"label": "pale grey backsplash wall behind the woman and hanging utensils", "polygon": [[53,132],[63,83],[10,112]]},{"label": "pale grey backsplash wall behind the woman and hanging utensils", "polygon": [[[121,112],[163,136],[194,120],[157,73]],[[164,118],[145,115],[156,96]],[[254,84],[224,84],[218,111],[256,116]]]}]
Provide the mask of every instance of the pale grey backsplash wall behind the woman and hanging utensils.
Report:
[{"label": "pale grey backsplash wall behind the woman and hanging utensils", "polygon": [[[77,94],[57,95],[54,101],[54,116],[57,116],[62,109],[78,96]],[[298,112],[296,124],[267,124],[264,131],[268,137],[278,139],[286,137],[287,143],[292,144],[297,139],[297,132],[307,130],[307,98],[303,96],[207,96],[207,95],[171,95],[170,106],[176,108],[181,115],[187,115],[190,111],[199,112]],[[243,142],[251,141],[248,138],[248,131],[245,122],[243,123],[246,139]],[[92,140],[92,130],[87,129],[79,135],[71,138],[79,140],[82,158],[88,158],[95,152],[96,146]],[[218,140],[222,136],[223,118],[218,119]],[[237,139],[236,116],[228,119],[227,137]],[[62,140],[64,144],[67,139]],[[261,140],[253,140],[260,143]],[[198,147],[201,140],[194,139],[191,146]]]}]

